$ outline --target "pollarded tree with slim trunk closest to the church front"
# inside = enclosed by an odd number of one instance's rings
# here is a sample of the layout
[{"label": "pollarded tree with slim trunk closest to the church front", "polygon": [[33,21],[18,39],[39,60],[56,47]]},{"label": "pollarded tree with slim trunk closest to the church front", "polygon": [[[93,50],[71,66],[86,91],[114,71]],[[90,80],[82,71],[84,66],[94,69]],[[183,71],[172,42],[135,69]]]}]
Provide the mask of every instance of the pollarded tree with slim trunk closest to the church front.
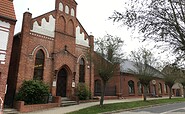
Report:
[{"label": "pollarded tree with slim trunk closest to the church front", "polygon": [[97,46],[96,53],[93,56],[95,73],[100,76],[103,83],[100,106],[103,105],[106,84],[116,73],[118,63],[123,59],[123,53],[120,52],[123,43],[120,37],[109,34],[95,41]]}]

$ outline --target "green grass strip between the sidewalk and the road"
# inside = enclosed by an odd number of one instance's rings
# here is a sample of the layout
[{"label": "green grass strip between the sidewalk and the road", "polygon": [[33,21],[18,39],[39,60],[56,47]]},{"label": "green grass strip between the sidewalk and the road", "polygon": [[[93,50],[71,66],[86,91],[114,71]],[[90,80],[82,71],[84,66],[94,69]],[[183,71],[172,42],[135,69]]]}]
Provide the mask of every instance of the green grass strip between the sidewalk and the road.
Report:
[{"label": "green grass strip between the sidewalk and the road", "polygon": [[68,114],[97,114],[97,113],[103,113],[103,112],[151,106],[151,105],[156,105],[156,104],[175,103],[175,102],[185,102],[185,99],[184,98],[172,98],[172,99],[148,100],[145,102],[144,101],[123,102],[123,103],[105,104],[102,107],[96,105],[96,106],[92,106],[89,108],[81,109],[79,111],[71,112]]}]

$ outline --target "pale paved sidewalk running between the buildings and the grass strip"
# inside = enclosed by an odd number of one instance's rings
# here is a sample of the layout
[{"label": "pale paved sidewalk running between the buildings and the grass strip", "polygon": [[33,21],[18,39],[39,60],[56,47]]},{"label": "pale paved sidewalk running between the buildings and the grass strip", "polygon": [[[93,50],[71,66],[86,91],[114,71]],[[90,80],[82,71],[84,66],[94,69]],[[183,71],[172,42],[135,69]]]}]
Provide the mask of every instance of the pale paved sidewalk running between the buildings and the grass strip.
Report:
[{"label": "pale paved sidewalk running between the buildings and the grass strip", "polygon": [[[163,99],[166,97],[162,98],[147,98],[147,100],[152,100],[152,99]],[[138,101],[142,100],[141,98],[130,98],[130,99],[116,99],[116,100],[105,100],[104,104],[111,104],[111,103],[119,103],[119,102],[131,102],[131,101]],[[51,108],[47,110],[41,110],[41,111],[35,111],[35,112],[30,112],[30,113],[21,113],[21,114],[65,114],[68,112],[73,112],[77,111],[83,108],[91,107],[94,105],[98,105],[99,102],[90,102],[90,103],[80,103],[79,105],[73,105],[73,106],[68,106],[68,107],[56,107],[56,108]]]}]

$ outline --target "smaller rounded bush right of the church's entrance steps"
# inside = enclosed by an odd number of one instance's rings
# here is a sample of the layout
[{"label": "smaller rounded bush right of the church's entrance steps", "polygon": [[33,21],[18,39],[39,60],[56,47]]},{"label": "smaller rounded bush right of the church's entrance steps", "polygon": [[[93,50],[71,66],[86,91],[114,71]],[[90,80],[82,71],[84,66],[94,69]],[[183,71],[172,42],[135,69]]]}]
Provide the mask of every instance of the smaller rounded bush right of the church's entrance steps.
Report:
[{"label": "smaller rounded bush right of the church's entrance steps", "polygon": [[85,83],[78,83],[77,96],[80,100],[86,100],[91,97],[91,92]]}]

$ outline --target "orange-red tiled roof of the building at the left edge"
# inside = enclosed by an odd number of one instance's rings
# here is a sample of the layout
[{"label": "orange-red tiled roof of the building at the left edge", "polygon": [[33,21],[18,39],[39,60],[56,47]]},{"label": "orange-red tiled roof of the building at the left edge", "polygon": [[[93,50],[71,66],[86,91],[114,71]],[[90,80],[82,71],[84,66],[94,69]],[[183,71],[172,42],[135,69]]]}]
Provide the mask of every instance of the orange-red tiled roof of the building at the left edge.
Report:
[{"label": "orange-red tiled roof of the building at the left edge", "polygon": [[16,20],[13,0],[0,0],[0,16]]}]

